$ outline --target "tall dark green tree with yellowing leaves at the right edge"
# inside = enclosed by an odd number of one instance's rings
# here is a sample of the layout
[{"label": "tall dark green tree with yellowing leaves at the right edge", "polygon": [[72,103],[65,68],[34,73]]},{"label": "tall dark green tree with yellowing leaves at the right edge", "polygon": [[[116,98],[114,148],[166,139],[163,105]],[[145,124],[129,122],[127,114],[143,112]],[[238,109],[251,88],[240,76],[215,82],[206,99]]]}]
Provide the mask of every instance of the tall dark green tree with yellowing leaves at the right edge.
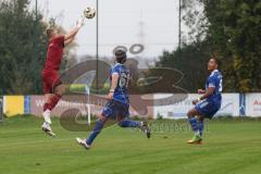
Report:
[{"label": "tall dark green tree with yellowing leaves at the right edge", "polygon": [[261,1],[219,0],[204,3],[209,40],[227,64],[226,77],[237,91],[261,90]]}]

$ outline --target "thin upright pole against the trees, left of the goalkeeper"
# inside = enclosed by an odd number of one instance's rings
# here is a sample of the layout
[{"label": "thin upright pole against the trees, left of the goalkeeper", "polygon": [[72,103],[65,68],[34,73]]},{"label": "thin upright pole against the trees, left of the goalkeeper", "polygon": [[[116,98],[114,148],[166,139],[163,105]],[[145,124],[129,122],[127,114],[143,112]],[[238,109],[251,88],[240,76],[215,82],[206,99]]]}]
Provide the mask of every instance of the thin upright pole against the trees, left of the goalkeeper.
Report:
[{"label": "thin upright pole against the trees, left of the goalkeeper", "polygon": [[38,75],[38,0],[35,1],[35,94],[37,94],[37,75]]}]

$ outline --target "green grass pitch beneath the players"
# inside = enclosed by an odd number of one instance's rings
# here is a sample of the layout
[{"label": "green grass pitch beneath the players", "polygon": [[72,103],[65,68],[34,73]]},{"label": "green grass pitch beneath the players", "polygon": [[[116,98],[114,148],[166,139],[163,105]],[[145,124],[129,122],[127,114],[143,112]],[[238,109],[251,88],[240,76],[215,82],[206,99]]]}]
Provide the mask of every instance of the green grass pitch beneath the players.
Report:
[{"label": "green grass pitch beneath the players", "polygon": [[[163,123],[165,121],[159,121]],[[169,121],[167,123],[176,123]],[[190,146],[189,130],[154,133],[105,128],[87,151],[58,120],[55,138],[40,130],[33,116],[0,123],[1,174],[258,174],[261,173],[261,122],[213,121],[203,145]]]}]

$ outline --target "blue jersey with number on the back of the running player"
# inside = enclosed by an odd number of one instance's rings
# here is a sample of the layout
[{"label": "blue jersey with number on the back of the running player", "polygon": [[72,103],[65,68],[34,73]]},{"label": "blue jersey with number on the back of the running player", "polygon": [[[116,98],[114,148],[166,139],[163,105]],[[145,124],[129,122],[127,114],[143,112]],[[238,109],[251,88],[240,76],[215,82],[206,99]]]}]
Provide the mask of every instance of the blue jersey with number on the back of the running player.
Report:
[{"label": "blue jersey with number on the back of the running player", "polygon": [[119,74],[119,80],[117,86],[115,88],[113,100],[119,101],[124,104],[128,104],[128,80],[130,78],[129,70],[124,65],[116,63],[110,72],[110,79],[112,79],[112,74],[117,73]]}]

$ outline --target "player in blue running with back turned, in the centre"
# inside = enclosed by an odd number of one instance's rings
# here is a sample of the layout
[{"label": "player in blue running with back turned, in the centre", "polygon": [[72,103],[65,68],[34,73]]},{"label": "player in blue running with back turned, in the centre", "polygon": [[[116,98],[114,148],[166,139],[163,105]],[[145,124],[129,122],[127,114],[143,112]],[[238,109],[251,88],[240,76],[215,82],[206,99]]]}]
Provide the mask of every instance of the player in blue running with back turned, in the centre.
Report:
[{"label": "player in blue running with back turned, in the centre", "polygon": [[128,100],[128,80],[130,77],[129,70],[124,65],[126,62],[126,52],[117,50],[115,52],[116,64],[111,69],[110,80],[111,89],[108,95],[108,103],[102,110],[101,115],[90,133],[88,139],[76,138],[76,141],[86,149],[89,149],[95,138],[99,135],[103,125],[109,119],[116,119],[121,127],[137,127],[146,133],[150,138],[150,128],[146,122],[136,122],[128,119],[129,100]]}]

